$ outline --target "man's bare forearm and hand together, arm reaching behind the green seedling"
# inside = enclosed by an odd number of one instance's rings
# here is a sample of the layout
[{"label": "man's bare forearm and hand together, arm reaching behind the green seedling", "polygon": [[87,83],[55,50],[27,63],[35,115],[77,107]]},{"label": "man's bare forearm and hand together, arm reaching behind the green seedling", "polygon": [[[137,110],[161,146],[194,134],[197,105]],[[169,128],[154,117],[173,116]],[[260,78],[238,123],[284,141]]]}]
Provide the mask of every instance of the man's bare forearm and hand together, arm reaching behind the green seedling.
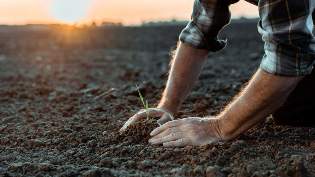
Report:
[{"label": "man's bare forearm and hand together, arm reaching behind the green seedling", "polygon": [[[161,101],[157,108],[149,109],[149,118],[159,118],[157,123],[160,125],[174,120],[180,104],[200,75],[208,54],[207,49],[196,49],[183,43],[179,44],[176,55],[173,56],[173,64]],[[144,109],[129,118],[122,129],[141,119],[146,119]]]}]

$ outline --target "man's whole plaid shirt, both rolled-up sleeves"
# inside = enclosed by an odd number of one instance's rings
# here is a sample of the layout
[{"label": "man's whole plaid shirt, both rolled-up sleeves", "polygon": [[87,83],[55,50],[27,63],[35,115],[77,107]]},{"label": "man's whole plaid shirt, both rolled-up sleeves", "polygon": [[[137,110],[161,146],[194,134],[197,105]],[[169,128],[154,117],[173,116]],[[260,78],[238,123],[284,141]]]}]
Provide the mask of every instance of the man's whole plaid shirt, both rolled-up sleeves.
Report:
[{"label": "man's whole plaid shirt, both rolled-up sleeves", "polygon": [[[230,23],[229,5],[239,0],[195,0],[192,20],[180,41],[194,48],[219,51],[226,46],[220,30]],[[313,0],[246,0],[258,6],[258,31],[265,42],[261,69],[274,75],[310,74],[315,63]],[[315,20],[315,15],[313,13]]]}]

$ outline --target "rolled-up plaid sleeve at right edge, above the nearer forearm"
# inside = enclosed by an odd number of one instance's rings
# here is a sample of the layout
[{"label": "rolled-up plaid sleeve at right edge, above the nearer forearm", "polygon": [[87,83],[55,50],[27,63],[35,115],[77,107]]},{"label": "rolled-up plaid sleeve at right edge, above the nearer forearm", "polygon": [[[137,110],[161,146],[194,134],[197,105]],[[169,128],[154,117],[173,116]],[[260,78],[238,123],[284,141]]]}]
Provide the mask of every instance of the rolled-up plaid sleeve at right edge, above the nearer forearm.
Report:
[{"label": "rolled-up plaid sleeve at right edge, above the nearer forearm", "polygon": [[258,31],[265,42],[262,70],[281,76],[311,73],[315,61],[314,3],[313,0],[259,1]]}]

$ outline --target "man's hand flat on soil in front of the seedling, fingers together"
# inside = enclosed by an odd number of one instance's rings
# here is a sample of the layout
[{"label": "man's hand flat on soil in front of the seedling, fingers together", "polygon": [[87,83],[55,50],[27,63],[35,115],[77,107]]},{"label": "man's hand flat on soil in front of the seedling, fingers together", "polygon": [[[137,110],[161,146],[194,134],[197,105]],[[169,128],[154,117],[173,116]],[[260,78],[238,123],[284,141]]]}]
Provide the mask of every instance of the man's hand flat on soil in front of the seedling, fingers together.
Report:
[{"label": "man's hand flat on soil in front of the seedling, fingers together", "polygon": [[153,145],[165,147],[201,146],[207,142],[222,141],[216,118],[188,117],[170,121],[150,134]]}]

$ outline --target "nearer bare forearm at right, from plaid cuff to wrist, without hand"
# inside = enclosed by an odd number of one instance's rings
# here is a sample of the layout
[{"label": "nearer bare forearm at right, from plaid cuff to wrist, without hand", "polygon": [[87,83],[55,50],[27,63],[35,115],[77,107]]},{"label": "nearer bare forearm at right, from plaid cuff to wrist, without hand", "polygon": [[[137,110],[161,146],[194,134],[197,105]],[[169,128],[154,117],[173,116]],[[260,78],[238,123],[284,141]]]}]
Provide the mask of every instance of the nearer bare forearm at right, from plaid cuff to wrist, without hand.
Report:
[{"label": "nearer bare forearm at right, from plaid cuff to wrist, without hand", "polygon": [[218,116],[222,139],[234,140],[261,122],[282,105],[302,78],[276,76],[259,69]]}]

